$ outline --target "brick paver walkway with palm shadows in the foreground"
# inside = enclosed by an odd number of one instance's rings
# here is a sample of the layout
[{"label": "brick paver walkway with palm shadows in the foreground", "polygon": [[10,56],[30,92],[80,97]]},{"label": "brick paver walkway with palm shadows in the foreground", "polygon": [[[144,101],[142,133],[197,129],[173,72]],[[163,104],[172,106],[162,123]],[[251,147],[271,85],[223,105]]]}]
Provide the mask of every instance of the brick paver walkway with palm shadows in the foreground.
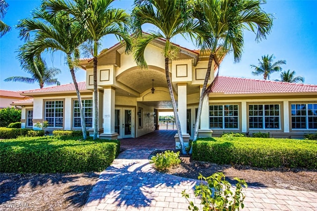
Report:
[{"label": "brick paver walkway with palm shadows in the foreground", "polygon": [[[151,142],[148,138],[144,141]],[[157,172],[148,159],[154,149],[144,145],[127,149],[127,143],[126,150],[101,173],[83,211],[187,211],[183,190],[200,204],[193,194],[198,180]],[[317,192],[248,187],[244,193],[243,211],[317,211]]]}]

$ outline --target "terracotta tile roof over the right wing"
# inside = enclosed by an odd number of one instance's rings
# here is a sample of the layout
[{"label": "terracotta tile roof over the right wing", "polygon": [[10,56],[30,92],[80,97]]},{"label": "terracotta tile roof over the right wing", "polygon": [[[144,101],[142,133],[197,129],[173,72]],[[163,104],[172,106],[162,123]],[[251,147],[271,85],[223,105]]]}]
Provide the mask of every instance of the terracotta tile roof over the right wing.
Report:
[{"label": "terracotta tile roof over the right wing", "polygon": [[219,76],[217,81],[214,83],[211,93],[223,93],[223,94],[317,93],[317,85]]}]

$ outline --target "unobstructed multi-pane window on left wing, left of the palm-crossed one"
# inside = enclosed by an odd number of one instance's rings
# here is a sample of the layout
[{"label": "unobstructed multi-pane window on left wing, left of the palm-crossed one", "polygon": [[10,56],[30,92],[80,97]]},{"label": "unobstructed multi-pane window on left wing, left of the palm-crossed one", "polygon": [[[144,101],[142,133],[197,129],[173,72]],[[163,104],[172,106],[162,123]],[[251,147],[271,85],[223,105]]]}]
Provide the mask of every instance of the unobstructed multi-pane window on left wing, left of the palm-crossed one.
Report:
[{"label": "unobstructed multi-pane window on left wing, left of the palm-crossed one", "polygon": [[63,101],[45,102],[45,120],[48,121],[49,127],[63,127],[63,107]]}]

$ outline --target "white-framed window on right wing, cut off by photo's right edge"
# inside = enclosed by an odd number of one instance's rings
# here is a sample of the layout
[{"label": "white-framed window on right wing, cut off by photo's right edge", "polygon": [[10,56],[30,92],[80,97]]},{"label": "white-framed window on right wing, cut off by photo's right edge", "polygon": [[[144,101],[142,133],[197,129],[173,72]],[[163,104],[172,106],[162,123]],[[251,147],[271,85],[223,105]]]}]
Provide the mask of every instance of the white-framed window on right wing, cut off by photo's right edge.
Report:
[{"label": "white-framed window on right wing, cut off by photo's right edge", "polygon": [[317,129],[317,104],[292,104],[293,129]]}]

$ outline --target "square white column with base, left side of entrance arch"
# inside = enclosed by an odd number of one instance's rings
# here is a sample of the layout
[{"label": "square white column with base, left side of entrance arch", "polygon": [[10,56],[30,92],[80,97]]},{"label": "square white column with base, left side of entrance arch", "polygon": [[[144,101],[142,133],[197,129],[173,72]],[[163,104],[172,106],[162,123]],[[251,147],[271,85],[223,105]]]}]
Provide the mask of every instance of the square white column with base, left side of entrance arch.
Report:
[{"label": "square white column with base, left side of entrance arch", "polygon": [[114,132],[114,106],[115,89],[106,87],[104,89],[104,133],[100,134],[101,139],[117,139],[118,134]]}]

